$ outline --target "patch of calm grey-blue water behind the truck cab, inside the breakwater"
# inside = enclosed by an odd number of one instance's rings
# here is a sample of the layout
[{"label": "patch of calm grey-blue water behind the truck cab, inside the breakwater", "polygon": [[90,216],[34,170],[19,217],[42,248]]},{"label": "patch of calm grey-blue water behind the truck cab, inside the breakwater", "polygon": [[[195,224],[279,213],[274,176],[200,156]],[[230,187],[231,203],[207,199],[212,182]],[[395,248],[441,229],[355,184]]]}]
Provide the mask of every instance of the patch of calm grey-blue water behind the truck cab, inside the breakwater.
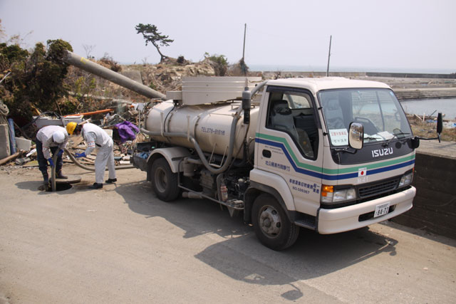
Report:
[{"label": "patch of calm grey-blue water behind the truck cab, inside the breakwater", "polygon": [[421,100],[406,100],[400,104],[404,111],[408,114],[416,114],[419,116],[431,115],[437,117],[437,112],[445,114],[443,119],[456,120],[456,98],[448,99],[421,99]]}]

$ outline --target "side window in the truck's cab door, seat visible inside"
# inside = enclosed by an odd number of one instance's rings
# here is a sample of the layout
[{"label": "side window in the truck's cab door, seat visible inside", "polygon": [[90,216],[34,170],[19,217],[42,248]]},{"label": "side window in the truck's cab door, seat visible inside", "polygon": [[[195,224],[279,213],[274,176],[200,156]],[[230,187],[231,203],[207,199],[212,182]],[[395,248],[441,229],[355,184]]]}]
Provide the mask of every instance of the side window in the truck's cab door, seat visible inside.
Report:
[{"label": "side window in the truck's cab door, seat visible inside", "polygon": [[269,92],[266,127],[286,132],[304,157],[316,159],[318,129],[308,93],[274,90]]}]

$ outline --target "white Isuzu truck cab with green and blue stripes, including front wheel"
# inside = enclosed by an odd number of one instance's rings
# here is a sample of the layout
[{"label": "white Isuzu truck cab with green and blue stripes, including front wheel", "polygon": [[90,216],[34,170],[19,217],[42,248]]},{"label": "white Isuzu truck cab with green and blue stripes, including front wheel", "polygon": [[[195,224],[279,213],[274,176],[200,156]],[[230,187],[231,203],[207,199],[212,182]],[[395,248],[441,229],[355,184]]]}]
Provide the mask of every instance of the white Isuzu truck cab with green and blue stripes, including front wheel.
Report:
[{"label": "white Isuzu truck cab with green and blue stripes, including front wheel", "polygon": [[260,241],[271,248],[294,242],[293,225],[334,234],[413,206],[412,131],[383,83],[268,81],[254,159],[249,190],[267,194],[252,202],[251,216]]}]

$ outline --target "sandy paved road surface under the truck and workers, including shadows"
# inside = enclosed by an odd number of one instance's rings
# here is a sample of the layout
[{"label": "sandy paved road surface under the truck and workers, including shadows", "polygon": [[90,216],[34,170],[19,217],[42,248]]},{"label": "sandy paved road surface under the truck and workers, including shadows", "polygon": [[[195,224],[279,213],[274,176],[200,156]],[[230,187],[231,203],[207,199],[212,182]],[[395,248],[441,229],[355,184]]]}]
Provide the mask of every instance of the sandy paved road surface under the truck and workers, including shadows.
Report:
[{"label": "sandy paved road surface under the truck and workers, including shadows", "polygon": [[155,198],[138,169],[39,192],[0,171],[0,303],[455,303],[456,241],[385,222],[271,251],[211,201]]}]

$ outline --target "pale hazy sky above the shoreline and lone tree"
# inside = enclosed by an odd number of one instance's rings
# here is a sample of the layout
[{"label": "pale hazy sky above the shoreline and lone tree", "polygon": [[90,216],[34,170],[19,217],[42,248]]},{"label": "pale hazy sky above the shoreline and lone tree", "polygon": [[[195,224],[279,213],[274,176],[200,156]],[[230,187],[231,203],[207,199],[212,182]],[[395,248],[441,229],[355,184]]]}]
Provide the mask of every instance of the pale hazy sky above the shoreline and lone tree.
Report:
[{"label": "pale hazy sky above the shoreline and lone tree", "polygon": [[[175,41],[167,56],[199,61],[204,53],[242,58],[247,65],[331,70],[447,70],[456,72],[455,0],[0,0],[1,25],[23,47],[61,38],[75,53],[84,45],[120,63],[160,61],[145,46],[138,23],[155,24]],[[30,33],[31,32],[31,33]],[[3,38],[5,41],[6,38]]]}]

